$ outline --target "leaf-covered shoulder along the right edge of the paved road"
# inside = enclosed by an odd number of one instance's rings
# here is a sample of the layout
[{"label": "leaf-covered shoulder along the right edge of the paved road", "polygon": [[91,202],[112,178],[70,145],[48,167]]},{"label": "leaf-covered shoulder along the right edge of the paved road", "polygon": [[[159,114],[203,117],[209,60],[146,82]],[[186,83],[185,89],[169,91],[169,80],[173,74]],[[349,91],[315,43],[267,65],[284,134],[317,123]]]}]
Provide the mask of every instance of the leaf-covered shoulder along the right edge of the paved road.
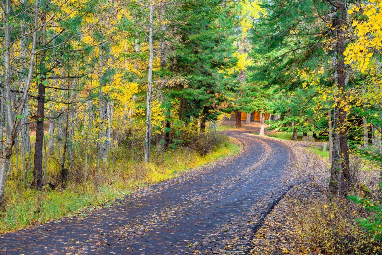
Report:
[{"label": "leaf-covered shoulder along the right edge of the paved road", "polygon": [[[301,141],[283,143],[296,155],[293,174],[304,176],[306,181],[291,187],[274,206],[262,226],[254,233],[249,254],[306,254],[304,250],[307,244],[301,238],[300,229],[296,227],[296,213],[303,213],[300,211],[301,205],[308,204],[307,201],[312,197],[322,196],[322,190],[327,189],[329,161],[306,149],[316,145]],[[305,157],[308,158],[308,164],[305,164]]]}]

